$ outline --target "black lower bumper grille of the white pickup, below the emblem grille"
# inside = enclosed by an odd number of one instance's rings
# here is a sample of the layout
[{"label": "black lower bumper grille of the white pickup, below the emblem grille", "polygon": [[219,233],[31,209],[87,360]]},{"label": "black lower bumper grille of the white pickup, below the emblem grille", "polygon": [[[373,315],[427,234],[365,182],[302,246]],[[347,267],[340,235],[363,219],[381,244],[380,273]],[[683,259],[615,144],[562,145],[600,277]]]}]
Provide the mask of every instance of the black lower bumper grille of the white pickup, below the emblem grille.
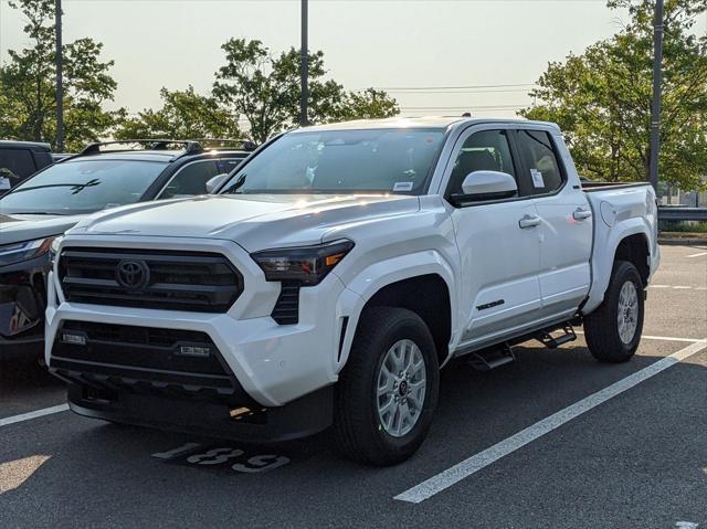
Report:
[{"label": "black lower bumper grille of the white pickup, below the emblem grille", "polygon": [[[85,343],[65,341],[83,336]],[[182,347],[209,349],[184,355]],[[56,334],[50,368],[97,389],[240,399],[242,388],[205,332],[67,320]]]}]

